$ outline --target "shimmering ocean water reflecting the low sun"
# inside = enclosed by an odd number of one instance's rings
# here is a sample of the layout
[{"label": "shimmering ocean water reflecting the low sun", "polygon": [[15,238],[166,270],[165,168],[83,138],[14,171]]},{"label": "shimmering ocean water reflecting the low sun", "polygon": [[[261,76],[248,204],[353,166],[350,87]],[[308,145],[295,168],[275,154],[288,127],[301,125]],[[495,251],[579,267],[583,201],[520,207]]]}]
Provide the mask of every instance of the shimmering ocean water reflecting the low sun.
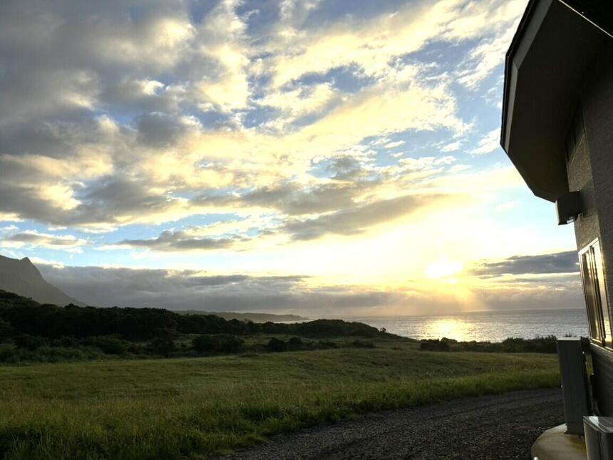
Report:
[{"label": "shimmering ocean water reflecting the low sun", "polygon": [[503,312],[466,312],[441,316],[359,317],[378,329],[414,339],[456,339],[460,341],[500,342],[507,337],[532,339],[537,335],[565,334],[587,337],[584,309],[512,310]]}]

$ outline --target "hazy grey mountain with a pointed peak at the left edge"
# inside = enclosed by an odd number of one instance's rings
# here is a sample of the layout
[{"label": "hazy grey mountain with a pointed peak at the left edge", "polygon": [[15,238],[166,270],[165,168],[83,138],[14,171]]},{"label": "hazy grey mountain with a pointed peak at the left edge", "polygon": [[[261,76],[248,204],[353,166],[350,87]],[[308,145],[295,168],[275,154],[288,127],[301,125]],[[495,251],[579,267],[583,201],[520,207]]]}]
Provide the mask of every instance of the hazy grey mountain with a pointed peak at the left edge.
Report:
[{"label": "hazy grey mountain with a pointed peak at the left edge", "polygon": [[28,257],[11,259],[0,255],[0,289],[55,305],[84,305],[46,282]]}]

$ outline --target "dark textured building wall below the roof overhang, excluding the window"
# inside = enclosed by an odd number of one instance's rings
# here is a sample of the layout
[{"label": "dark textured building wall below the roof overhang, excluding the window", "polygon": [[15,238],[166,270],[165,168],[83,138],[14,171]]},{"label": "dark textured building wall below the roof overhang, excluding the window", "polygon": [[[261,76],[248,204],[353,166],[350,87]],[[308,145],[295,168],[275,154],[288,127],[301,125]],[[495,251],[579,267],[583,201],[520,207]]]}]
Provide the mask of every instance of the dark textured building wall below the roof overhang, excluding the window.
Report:
[{"label": "dark textured building wall below the roof overhang, excluding the window", "polygon": [[[584,75],[580,91],[585,136],[569,164],[570,190],[581,190],[584,215],[575,223],[577,247],[598,237],[609,307],[613,293],[613,45],[606,44]],[[591,177],[590,177],[591,176]],[[610,332],[609,332],[610,334]],[[613,414],[613,352],[592,345],[594,396]]]}]

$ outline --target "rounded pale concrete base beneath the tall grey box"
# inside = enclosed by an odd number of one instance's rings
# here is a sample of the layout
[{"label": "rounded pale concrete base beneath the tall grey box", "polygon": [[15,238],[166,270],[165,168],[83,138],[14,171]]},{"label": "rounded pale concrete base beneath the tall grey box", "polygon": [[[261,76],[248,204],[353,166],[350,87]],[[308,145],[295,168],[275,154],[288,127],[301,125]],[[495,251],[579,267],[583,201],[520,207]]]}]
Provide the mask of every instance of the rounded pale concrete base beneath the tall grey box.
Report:
[{"label": "rounded pale concrete base beneath the tall grey box", "polygon": [[564,434],[566,425],[556,426],[541,434],[532,444],[533,460],[587,460],[583,436]]}]

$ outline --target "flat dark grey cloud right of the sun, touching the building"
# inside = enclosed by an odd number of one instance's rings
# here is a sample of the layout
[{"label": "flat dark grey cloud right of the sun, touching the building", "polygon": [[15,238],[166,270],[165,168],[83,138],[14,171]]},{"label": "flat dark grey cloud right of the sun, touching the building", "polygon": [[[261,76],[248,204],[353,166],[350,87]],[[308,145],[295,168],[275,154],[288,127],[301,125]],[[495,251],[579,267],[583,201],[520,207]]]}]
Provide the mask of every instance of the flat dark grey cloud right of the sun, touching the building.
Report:
[{"label": "flat dark grey cloud right of the sun, touching the building", "polygon": [[473,270],[480,277],[502,275],[549,275],[579,272],[576,251],[542,255],[516,255],[496,262],[483,262]]}]

